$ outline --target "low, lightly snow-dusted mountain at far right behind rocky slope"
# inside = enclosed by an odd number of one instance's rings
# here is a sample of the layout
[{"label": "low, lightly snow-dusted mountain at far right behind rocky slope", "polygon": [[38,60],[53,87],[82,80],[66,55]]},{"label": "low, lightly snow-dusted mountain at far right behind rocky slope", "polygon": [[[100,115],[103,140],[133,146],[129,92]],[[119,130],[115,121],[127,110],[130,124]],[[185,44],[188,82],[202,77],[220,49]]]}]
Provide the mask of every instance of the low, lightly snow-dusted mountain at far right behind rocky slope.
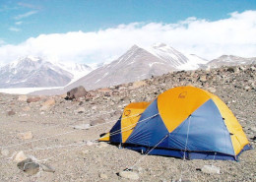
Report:
[{"label": "low, lightly snow-dusted mountain at far right behind rocky slope", "polygon": [[211,68],[218,68],[220,66],[235,66],[242,64],[256,64],[256,57],[243,58],[233,55],[223,55],[208,63]]}]

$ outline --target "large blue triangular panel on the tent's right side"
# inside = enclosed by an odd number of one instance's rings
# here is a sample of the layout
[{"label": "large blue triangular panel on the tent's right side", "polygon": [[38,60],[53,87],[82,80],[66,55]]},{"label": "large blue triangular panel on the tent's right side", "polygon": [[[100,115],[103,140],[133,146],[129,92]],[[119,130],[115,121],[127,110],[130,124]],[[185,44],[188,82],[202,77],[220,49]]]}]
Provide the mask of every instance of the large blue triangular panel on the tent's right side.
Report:
[{"label": "large blue triangular panel on the tent's right side", "polygon": [[159,145],[178,150],[185,150],[185,146],[187,151],[234,155],[223,117],[212,99],[192,113]]}]

